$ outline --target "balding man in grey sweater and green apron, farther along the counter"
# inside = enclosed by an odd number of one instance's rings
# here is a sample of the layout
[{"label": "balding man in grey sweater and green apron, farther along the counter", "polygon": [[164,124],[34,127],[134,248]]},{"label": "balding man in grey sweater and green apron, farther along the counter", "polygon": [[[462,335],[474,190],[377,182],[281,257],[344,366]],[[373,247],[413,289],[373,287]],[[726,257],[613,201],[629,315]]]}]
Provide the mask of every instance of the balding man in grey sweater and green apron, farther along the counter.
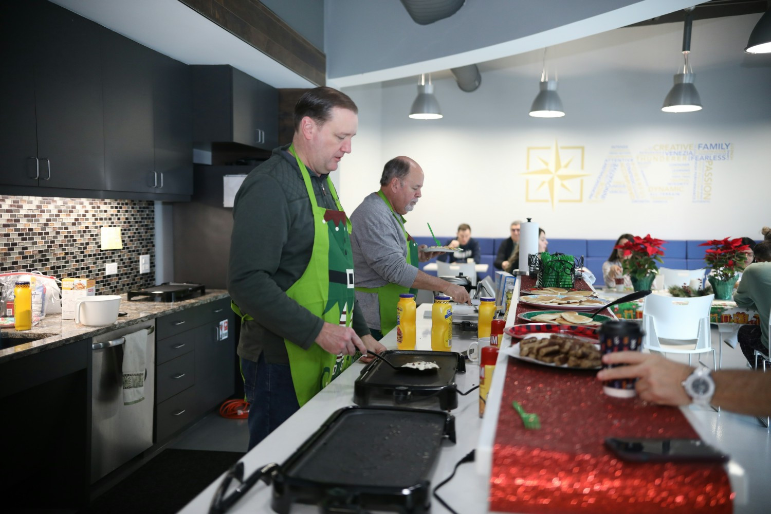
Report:
[{"label": "balding man in grey sweater and green apron, farther along the counter", "polygon": [[364,312],[375,339],[396,327],[399,294],[418,289],[442,291],[462,304],[470,304],[469,293],[458,284],[423,273],[419,262],[439,252],[425,252],[407,233],[403,215],[415,207],[423,189],[423,170],[409,157],[385,163],[380,190],[365,197],[351,214],[356,301]]}]

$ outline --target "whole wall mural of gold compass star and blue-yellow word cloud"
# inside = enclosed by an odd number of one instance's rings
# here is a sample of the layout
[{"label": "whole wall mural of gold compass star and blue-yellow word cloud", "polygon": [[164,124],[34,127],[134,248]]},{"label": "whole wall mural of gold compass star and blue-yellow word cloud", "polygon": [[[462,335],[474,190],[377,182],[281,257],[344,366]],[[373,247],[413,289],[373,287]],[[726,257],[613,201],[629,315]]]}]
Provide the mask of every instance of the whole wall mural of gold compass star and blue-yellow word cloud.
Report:
[{"label": "whole wall mural of gold compass star and blue-yellow word cloud", "polygon": [[[584,146],[528,146],[525,201],[557,203],[710,203],[715,166],[733,159],[733,143],[655,144],[633,153],[614,145],[599,173],[584,169]],[[588,178],[587,178],[588,177]]]}]

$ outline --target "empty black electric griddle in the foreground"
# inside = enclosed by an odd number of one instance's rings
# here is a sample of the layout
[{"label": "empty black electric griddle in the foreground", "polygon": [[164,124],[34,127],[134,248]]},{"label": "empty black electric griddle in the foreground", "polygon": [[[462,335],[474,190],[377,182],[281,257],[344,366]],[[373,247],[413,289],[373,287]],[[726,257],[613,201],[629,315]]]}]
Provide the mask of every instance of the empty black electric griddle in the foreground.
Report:
[{"label": "empty black electric griddle in the foreground", "polygon": [[428,512],[432,475],[444,439],[455,442],[446,412],[350,407],[332,414],[274,474],[271,507],[292,503],[321,512]]}]

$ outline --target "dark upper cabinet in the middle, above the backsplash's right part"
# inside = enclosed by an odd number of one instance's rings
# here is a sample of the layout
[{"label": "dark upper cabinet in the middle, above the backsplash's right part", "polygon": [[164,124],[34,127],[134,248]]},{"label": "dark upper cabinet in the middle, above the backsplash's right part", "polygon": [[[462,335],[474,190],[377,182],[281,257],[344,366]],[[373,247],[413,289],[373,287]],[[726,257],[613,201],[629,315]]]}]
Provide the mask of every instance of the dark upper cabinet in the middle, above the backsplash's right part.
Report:
[{"label": "dark upper cabinet in the middle, above the backsplash's right part", "polygon": [[188,66],[109,31],[102,66],[106,190],[192,194]]}]

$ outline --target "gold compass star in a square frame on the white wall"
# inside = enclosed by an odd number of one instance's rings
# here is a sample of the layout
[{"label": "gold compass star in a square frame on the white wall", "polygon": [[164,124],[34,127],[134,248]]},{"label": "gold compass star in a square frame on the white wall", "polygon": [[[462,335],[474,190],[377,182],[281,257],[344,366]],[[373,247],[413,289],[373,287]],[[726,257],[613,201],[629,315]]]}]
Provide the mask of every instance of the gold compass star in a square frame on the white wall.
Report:
[{"label": "gold compass star in a square frame on the white wall", "polygon": [[528,146],[525,201],[557,203],[584,201],[584,146]]}]

